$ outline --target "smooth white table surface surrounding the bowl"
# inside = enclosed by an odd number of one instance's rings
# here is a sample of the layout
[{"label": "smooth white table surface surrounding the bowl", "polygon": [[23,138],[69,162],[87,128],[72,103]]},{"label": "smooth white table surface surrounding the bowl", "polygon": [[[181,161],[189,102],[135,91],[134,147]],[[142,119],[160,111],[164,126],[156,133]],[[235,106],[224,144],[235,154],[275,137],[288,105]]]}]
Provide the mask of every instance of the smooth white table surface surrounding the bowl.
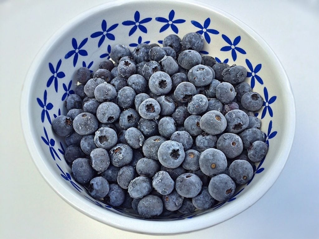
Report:
[{"label": "smooth white table surface surrounding the bowl", "polygon": [[[20,94],[41,46],[62,25],[108,0],[0,0],[0,237],[164,238],[95,221],[63,201],[44,181],[26,148]],[[234,218],[165,238],[319,238],[319,3],[208,1],[259,33],[276,52],[296,101],[296,134],[288,162],[271,189]]]}]

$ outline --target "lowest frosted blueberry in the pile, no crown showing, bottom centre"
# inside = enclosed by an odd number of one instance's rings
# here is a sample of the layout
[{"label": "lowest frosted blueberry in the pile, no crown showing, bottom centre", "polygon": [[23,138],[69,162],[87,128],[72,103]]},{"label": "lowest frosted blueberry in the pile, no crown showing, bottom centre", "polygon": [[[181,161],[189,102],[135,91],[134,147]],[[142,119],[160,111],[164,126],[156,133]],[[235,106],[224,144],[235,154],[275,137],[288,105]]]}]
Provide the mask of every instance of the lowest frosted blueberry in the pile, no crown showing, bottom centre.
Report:
[{"label": "lowest frosted blueberry in the pile, no crown showing, bottom centre", "polygon": [[155,195],[147,195],[139,201],[137,210],[142,217],[153,218],[163,212],[163,202]]}]

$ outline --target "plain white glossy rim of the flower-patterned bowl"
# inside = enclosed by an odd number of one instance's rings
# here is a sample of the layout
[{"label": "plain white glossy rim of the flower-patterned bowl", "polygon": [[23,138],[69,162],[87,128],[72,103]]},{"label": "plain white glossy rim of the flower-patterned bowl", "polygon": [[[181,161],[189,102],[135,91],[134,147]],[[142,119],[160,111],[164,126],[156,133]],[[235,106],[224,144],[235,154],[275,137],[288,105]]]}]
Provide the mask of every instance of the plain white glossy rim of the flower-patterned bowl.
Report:
[{"label": "plain white glossy rim of the flower-patterned bowl", "polygon": [[[165,2],[169,3],[169,0],[164,0]],[[219,224],[223,221],[226,221],[235,215],[243,212],[250,206],[252,206],[256,201],[258,201],[275,183],[277,178],[279,177],[281,171],[283,170],[286,161],[289,156],[290,149],[292,147],[294,132],[295,132],[295,121],[296,121],[296,114],[295,114],[295,102],[293,98],[293,92],[291,89],[291,85],[286,74],[285,69],[283,68],[281,62],[279,61],[277,55],[271,49],[271,47],[263,40],[261,36],[259,36],[252,28],[248,25],[243,23],[241,20],[237,19],[236,17],[232,16],[225,11],[216,8],[209,4],[204,4],[201,2],[193,1],[193,0],[177,0],[174,1],[175,3],[182,3],[187,4],[189,6],[204,8],[209,11],[213,11],[219,15],[222,15],[228,19],[230,19],[235,25],[240,27],[243,31],[249,34],[254,39],[258,40],[259,44],[263,47],[263,49],[267,52],[268,55],[273,57],[273,62],[276,63],[278,66],[278,70],[282,72],[280,76],[282,79],[285,79],[284,85],[286,86],[286,93],[283,97],[284,100],[289,100],[291,104],[287,104],[287,117],[290,119],[290,124],[287,126],[286,130],[286,141],[284,142],[283,152],[281,154],[280,164],[277,165],[277,168],[274,172],[272,172],[271,177],[267,178],[266,181],[263,181],[262,187],[259,188],[258,191],[254,193],[250,193],[250,200],[241,201],[241,205],[238,206],[236,202],[231,204],[227,204],[218,210],[214,211],[214,214],[208,213],[204,215],[200,215],[197,217],[189,219],[182,219],[182,220],[175,220],[173,221],[154,221],[154,220],[141,220],[137,218],[125,217],[120,214],[113,213],[111,211],[105,210],[100,208],[97,205],[93,205],[90,202],[86,202],[83,199],[83,196],[72,193],[68,188],[64,187],[58,180],[56,180],[56,175],[49,170],[48,166],[44,160],[42,160],[41,152],[35,146],[34,139],[35,133],[32,131],[30,125],[30,94],[32,83],[34,80],[34,75],[37,72],[37,66],[40,62],[43,61],[46,52],[50,48],[50,46],[54,45],[53,43],[56,41],[57,38],[67,33],[74,25],[76,25],[79,21],[91,16],[92,14],[103,11],[107,8],[117,7],[122,4],[130,4],[130,3],[138,3],[141,4],[143,2],[149,2],[147,0],[120,0],[120,1],[111,1],[105,4],[101,4],[90,8],[82,13],[80,13],[75,18],[71,19],[68,23],[63,25],[56,33],[54,33],[49,40],[41,47],[41,50],[37,53],[35,59],[33,60],[30,69],[26,75],[25,82],[23,83],[23,89],[21,93],[21,108],[20,113],[21,116],[24,116],[24,119],[21,117],[21,124],[24,133],[24,138],[30,152],[30,155],[33,158],[33,162],[35,163],[37,169],[39,170],[42,177],[48,183],[48,185],[68,204],[82,212],[83,214],[100,221],[104,224],[109,226],[119,228],[125,231],[130,232],[137,232],[143,234],[153,234],[153,235],[165,235],[165,234],[180,234],[186,233],[191,231],[196,231],[204,228],[211,227],[213,225]],[[161,0],[163,2],[163,0]],[[26,120],[25,120],[26,119]],[[237,200],[236,200],[237,201]],[[88,204],[90,206],[88,207]],[[237,205],[237,206],[236,206]],[[101,211],[103,210],[103,211]],[[205,219],[205,220],[203,220]]]}]

